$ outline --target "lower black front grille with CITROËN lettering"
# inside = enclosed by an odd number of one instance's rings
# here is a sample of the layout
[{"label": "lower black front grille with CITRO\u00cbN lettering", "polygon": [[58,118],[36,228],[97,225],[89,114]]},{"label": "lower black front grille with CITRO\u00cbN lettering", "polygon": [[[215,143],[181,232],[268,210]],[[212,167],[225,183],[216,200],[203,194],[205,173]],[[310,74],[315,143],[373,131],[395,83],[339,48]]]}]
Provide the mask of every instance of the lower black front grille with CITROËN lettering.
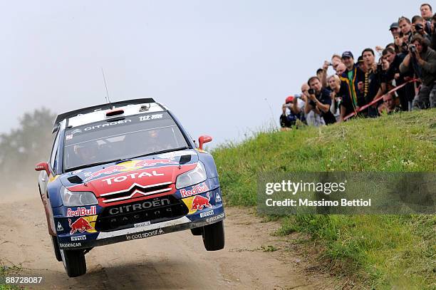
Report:
[{"label": "lower black front grille with CITRO\u00cbN lettering", "polygon": [[156,224],[183,217],[188,212],[186,205],[172,195],[155,197],[140,202],[106,207],[103,213],[98,215],[95,229],[99,232],[110,232],[135,227],[138,223]]}]

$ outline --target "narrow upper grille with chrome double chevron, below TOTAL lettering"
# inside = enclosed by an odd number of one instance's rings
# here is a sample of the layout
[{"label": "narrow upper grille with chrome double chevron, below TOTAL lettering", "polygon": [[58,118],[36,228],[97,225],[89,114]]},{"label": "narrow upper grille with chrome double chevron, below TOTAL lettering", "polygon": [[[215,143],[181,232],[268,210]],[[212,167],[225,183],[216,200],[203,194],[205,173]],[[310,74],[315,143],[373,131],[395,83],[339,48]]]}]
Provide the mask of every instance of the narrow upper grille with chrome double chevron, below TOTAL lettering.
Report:
[{"label": "narrow upper grille with chrome double chevron, below TOTAL lettering", "polygon": [[119,202],[121,200],[129,200],[134,195],[157,195],[163,192],[170,192],[172,188],[170,187],[172,182],[157,183],[155,185],[140,186],[135,185],[129,190],[123,190],[120,192],[108,192],[100,195],[103,198],[103,202],[108,204],[110,202]]}]

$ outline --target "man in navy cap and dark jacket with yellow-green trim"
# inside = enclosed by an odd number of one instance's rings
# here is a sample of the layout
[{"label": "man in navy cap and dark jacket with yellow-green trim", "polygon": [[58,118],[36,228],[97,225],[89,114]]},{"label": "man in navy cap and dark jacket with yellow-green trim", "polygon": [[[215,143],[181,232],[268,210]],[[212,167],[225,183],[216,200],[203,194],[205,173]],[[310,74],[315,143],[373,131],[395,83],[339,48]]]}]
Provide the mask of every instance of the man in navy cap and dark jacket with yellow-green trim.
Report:
[{"label": "man in navy cap and dark jacket with yellow-green trim", "polygon": [[362,105],[365,105],[365,98],[363,98],[363,81],[365,81],[365,73],[355,66],[353,53],[345,51],[342,53],[343,64],[346,65],[346,71],[341,75],[341,81],[344,83],[341,86],[346,86],[350,92],[350,102],[346,100],[347,110],[351,108],[358,110]]}]

